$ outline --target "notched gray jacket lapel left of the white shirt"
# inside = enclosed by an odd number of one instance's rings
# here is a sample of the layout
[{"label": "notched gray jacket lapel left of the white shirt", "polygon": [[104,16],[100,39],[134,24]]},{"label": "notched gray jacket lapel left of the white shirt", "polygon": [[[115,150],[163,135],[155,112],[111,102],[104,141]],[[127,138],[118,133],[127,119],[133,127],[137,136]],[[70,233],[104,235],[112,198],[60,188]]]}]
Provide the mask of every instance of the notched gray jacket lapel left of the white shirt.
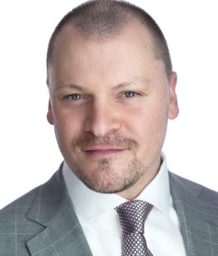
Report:
[{"label": "notched gray jacket lapel left of the white shirt", "polygon": [[31,255],[91,256],[88,242],[73,210],[62,176],[62,167],[40,186],[26,217],[44,229],[27,242]]}]

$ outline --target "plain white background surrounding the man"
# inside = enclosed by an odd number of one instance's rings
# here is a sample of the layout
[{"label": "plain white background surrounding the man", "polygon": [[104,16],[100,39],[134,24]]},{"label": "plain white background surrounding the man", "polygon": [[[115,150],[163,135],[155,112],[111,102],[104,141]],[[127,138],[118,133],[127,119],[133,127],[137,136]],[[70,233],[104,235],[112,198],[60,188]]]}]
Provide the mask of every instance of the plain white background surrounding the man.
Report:
[{"label": "plain white background surrounding the man", "polygon": [[[81,2],[0,3],[0,208],[47,181],[62,161],[45,118],[45,54],[60,18]],[[131,2],[159,23],[178,72],[180,114],[168,124],[168,167],[218,191],[217,2]]]}]

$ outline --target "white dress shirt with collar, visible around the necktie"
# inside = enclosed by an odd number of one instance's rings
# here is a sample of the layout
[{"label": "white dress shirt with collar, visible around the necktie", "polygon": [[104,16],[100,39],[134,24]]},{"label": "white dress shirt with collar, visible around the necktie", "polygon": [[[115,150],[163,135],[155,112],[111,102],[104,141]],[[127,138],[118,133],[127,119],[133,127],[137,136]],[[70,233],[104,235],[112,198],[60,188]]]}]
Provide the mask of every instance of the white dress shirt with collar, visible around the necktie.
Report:
[{"label": "white dress shirt with collar, visible around the necktie", "polygon": [[[73,174],[66,162],[63,175],[93,256],[121,256],[121,226],[114,208],[127,200],[116,194],[101,194],[90,190]],[[145,239],[152,254],[187,255],[170,195],[164,155],[158,174],[135,200],[145,200],[154,205],[145,221]]]}]

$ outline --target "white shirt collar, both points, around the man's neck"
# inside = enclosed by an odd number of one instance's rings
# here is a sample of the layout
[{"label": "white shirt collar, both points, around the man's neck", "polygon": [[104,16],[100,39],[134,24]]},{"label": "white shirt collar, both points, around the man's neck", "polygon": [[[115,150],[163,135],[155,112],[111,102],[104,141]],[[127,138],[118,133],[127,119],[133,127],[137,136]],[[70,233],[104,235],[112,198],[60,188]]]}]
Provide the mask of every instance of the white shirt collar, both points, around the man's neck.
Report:
[{"label": "white shirt collar, both points, around the man's neck", "polygon": [[[164,153],[162,160],[158,174],[135,200],[145,200],[167,214],[170,206],[170,191],[167,160]],[[116,194],[92,191],[78,179],[66,162],[64,162],[63,176],[74,210],[81,223],[87,223],[98,218],[99,215],[114,211],[117,205],[128,201]]]}]

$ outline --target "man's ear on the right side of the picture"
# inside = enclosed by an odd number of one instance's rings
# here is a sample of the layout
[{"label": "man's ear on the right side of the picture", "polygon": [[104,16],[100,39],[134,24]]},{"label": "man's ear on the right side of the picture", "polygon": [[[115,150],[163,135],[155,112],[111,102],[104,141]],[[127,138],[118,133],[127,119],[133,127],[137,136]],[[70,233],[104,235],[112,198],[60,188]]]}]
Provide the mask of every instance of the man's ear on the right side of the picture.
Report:
[{"label": "man's ear on the right side of the picture", "polygon": [[178,81],[177,73],[173,72],[169,85],[168,118],[174,119],[178,116],[178,99],[176,94],[176,85]]}]

